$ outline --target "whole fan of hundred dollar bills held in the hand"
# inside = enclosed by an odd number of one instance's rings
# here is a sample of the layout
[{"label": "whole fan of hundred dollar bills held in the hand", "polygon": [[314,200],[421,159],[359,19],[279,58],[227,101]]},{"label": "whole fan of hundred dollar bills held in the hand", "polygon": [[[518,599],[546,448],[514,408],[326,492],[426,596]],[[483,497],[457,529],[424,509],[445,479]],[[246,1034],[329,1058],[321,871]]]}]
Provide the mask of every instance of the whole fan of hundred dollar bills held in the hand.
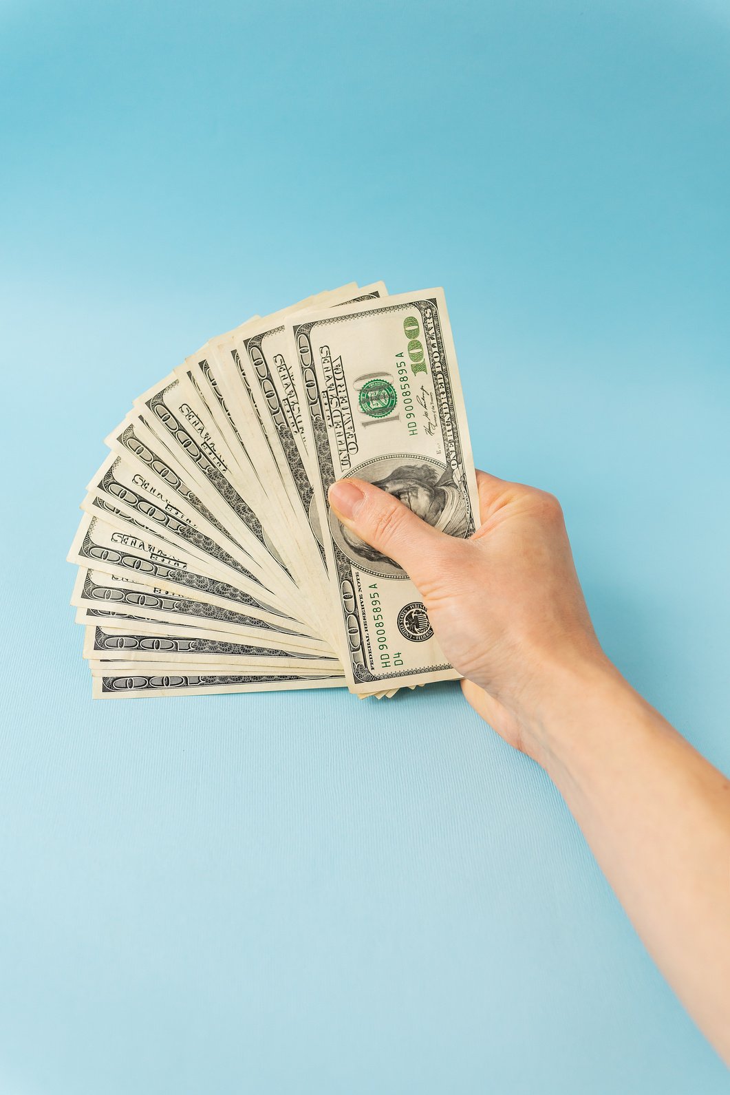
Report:
[{"label": "whole fan of hundred dollar bills held in the hand", "polygon": [[135,400],[69,552],[93,695],[457,678],[407,575],[327,504],[357,476],[452,535],[478,514],[441,289],[352,283],[247,320]]}]

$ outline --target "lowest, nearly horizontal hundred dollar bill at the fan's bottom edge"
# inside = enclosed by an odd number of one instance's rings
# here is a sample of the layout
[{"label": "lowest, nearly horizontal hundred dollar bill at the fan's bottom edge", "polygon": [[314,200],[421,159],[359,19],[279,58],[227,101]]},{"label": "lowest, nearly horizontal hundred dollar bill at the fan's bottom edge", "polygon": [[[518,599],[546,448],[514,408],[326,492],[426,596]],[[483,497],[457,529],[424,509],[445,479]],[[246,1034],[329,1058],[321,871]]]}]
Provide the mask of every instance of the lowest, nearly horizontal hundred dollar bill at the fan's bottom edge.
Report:
[{"label": "lowest, nearly horizontal hundred dollar bill at the fan's bottom edge", "polygon": [[216,675],[198,673],[123,673],[92,677],[94,700],[137,699],[163,695],[216,695],[227,692],[282,692],[292,689],[344,688],[341,675],[315,677],[306,673],[288,673],[278,679],[256,673]]}]

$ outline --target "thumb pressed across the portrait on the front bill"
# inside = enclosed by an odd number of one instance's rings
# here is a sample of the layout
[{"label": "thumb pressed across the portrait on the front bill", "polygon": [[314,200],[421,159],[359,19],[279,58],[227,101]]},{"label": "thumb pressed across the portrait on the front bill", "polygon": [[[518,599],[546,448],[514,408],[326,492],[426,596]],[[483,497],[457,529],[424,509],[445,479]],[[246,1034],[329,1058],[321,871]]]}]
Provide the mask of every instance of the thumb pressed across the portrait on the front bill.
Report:
[{"label": "thumb pressed across the portrait on the front bill", "polygon": [[455,543],[386,491],[362,480],[338,480],[329,505],[350,532],[402,566],[418,586]]}]

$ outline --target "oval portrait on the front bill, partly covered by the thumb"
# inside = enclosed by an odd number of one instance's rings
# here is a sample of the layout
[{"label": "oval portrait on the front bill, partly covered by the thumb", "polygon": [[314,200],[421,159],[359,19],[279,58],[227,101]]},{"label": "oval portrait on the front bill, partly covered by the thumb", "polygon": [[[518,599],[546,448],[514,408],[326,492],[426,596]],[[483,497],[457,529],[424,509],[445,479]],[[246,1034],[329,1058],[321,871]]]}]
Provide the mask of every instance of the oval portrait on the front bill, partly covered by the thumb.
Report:
[{"label": "oval portrait on the front bill, partly covered by the thumb", "polygon": [[[394,463],[392,460],[390,462]],[[433,463],[414,460],[395,464],[379,479],[367,474],[364,469],[355,471],[354,474],[392,494],[434,529],[451,537],[467,534],[470,529],[467,503],[451,473],[443,465],[439,468]],[[383,573],[384,568],[384,573],[393,576],[403,574],[393,560],[371,548],[339,521],[337,529],[340,546],[354,562],[364,564],[364,569],[371,570],[372,567],[368,566],[368,563],[371,563],[375,564],[378,573]]]}]

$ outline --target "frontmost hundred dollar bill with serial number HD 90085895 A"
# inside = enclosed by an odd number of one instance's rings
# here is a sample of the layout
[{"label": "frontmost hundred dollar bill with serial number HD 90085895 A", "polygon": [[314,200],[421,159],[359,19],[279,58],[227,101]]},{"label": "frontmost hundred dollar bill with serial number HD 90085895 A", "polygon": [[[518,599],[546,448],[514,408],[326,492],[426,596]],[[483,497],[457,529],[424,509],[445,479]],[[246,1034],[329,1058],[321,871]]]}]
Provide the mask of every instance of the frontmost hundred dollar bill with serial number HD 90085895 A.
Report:
[{"label": "frontmost hundred dollar bill with serial number HD 90085895 A", "polygon": [[443,291],[298,315],[288,328],[306,393],[309,517],[325,551],[348,684],[371,693],[456,679],[408,576],[326,500],[335,480],[357,476],[450,535],[474,532],[476,477]]}]

